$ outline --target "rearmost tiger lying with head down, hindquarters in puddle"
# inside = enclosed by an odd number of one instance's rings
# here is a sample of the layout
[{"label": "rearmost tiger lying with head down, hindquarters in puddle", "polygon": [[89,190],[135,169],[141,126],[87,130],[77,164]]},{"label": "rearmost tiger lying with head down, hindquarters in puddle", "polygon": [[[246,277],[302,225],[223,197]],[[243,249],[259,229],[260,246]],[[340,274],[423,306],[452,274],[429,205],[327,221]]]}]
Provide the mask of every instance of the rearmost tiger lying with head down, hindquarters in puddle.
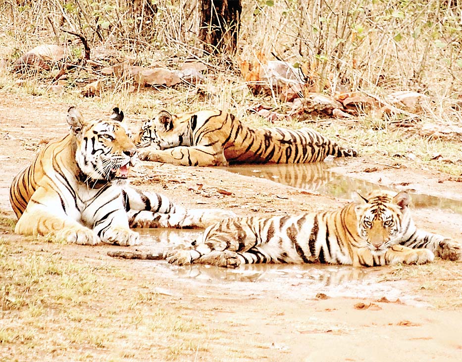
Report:
[{"label": "rearmost tiger lying with head down, hindquarters in puddle", "polygon": [[182,166],[306,163],[357,154],[308,128],[251,128],[217,110],[181,115],[161,111],[144,122],[135,142],[140,159]]}]

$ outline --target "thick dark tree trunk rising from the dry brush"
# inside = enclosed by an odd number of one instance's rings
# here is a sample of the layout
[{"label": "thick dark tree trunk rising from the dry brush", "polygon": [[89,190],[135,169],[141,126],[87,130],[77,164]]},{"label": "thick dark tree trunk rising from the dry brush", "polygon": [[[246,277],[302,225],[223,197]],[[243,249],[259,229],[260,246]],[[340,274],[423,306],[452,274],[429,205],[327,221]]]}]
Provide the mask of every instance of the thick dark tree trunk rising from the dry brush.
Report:
[{"label": "thick dark tree trunk rising from the dry brush", "polygon": [[211,54],[236,51],[241,0],[200,0],[199,39]]}]

